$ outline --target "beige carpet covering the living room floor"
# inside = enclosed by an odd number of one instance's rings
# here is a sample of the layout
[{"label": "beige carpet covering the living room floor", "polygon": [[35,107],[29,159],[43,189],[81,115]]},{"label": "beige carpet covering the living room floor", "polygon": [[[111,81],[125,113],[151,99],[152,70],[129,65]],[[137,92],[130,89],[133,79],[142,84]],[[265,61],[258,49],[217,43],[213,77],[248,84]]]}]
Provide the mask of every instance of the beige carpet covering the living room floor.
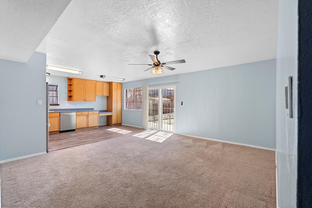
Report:
[{"label": "beige carpet covering the living room floor", "polygon": [[1,164],[1,206],[276,207],[274,151],[132,134]]}]

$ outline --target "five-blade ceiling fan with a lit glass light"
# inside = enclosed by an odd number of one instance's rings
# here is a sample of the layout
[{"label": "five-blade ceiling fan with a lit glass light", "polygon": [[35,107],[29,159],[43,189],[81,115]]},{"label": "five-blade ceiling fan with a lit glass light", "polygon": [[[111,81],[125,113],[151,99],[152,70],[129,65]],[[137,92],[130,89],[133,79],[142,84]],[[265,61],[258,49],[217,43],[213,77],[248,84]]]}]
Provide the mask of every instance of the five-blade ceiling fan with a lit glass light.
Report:
[{"label": "five-blade ceiling fan with a lit glass light", "polygon": [[170,67],[170,66],[167,66],[169,64],[177,64],[177,63],[185,63],[185,60],[182,59],[182,60],[176,60],[176,61],[167,61],[167,62],[163,62],[161,63],[159,60],[158,60],[158,55],[159,55],[159,51],[154,51],[154,54],[156,55],[153,56],[153,55],[149,55],[150,58],[152,59],[153,61],[153,64],[128,64],[128,65],[149,65],[151,66],[150,68],[144,70],[145,71],[148,71],[148,70],[151,70],[151,74],[153,75],[161,75],[161,74],[164,74],[164,71],[162,68],[165,68],[165,69],[169,69],[171,71],[175,70],[176,68],[173,68],[173,67]]}]

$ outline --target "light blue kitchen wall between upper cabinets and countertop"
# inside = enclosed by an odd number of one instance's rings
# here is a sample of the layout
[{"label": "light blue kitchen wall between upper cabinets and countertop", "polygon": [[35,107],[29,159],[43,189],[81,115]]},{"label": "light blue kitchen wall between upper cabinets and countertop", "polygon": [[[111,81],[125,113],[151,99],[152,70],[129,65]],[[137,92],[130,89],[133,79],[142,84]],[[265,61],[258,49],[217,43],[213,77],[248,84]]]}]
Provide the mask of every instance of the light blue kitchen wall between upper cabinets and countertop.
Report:
[{"label": "light blue kitchen wall between upper cabinets and countertop", "polygon": [[[94,108],[95,110],[106,110],[105,96],[97,96],[96,102],[69,102],[67,101],[67,77],[47,76],[46,80],[49,84],[56,84],[59,86],[59,106],[50,106],[50,109]],[[69,104],[71,106],[67,106]]]}]

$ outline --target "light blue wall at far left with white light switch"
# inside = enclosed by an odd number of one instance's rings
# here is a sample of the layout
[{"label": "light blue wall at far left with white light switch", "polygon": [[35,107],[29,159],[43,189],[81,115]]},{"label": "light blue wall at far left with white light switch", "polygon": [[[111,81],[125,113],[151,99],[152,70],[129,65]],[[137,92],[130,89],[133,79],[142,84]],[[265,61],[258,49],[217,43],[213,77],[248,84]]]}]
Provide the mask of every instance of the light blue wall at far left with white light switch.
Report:
[{"label": "light blue wall at far left with white light switch", "polygon": [[45,66],[41,53],[27,63],[0,59],[0,161],[46,151]]}]

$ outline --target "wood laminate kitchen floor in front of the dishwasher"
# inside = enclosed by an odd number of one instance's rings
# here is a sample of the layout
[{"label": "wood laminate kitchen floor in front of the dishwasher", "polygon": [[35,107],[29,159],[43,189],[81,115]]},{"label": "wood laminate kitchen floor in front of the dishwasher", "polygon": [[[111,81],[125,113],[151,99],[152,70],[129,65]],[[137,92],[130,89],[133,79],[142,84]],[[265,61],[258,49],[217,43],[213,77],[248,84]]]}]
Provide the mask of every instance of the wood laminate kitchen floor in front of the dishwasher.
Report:
[{"label": "wood laminate kitchen floor in front of the dishwasher", "polygon": [[49,135],[49,151],[57,151],[85,145],[89,143],[99,142],[107,139],[114,139],[120,137],[123,134],[107,131],[107,129],[118,128],[127,131],[131,131],[131,134],[143,132],[145,130],[129,127],[129,126],[99,126],[96,129],[79,130],[72,132],[61,132]]}]

